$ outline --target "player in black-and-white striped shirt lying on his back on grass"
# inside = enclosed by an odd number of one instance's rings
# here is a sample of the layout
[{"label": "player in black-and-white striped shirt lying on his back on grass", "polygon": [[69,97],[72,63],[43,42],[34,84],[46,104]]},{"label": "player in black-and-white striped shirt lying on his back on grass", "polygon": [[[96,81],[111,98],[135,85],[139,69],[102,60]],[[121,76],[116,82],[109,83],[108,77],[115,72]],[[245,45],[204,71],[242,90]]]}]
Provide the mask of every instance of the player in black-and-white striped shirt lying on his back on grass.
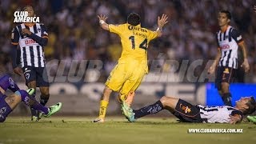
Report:
[{"label": "player in black-and-white striped shirt lying on his back on grass", "polygon": [[122,112],[130,122],[161,110],[169,110],[181,122],[231,123],[242,121],[243,114],[252,114],[255,110],[254,97],[240,98],[236,106],[202,106],[192,105],[179,98],[163,96],[158,102],[139,110],[132,110],[125,102]]}]

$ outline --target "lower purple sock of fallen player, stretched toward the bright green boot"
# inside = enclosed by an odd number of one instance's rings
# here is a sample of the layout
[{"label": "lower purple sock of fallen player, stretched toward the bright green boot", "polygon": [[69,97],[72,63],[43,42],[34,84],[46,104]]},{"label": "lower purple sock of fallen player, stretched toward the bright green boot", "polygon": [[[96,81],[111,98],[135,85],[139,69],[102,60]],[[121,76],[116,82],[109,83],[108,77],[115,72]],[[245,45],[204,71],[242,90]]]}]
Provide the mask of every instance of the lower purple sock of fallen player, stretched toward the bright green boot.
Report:
[{"label": "lower purple sock of fallen player, stretched toward the bright green boot", "polygon": [[48,108],[45,106],[42,106],[38,101],[35,100],[35,98],[31,97],[30,94],[26,92],[26,90],[18,90],[15,92],[15,94],[18,94],[22,98],[22,102],[26,104],[26,106],[30,106],[34,110],[40,110],[44,114],[48,114]]}]

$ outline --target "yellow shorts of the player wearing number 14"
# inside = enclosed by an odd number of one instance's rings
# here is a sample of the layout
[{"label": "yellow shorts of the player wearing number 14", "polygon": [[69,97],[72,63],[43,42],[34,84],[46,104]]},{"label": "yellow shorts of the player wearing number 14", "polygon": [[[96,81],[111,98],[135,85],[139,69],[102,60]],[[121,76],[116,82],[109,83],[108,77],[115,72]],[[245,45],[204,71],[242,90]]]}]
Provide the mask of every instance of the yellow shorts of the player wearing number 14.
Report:
[{"label": "yellow shorts of the player wearing number 14", "polygon": [[106,86],[122,95],[137,90],[146,74],[145,66],[140,62],[118,63],[106,80]]}]

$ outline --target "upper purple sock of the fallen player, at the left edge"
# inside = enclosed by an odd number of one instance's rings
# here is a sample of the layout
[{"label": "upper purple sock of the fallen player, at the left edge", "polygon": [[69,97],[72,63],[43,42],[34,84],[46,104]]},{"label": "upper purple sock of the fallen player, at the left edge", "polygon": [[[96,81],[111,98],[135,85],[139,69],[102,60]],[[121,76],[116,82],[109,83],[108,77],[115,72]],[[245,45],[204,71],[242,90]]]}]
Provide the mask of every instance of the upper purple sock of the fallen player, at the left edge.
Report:
[{"label": "upper purple sock of the fallen player, at the left edge", "polygon": [[13,92],[19,90],[14,80],[10,78],[10,76],[7,74],[0,78],[0,86],[2,87],[3,90],[9,89]]}]

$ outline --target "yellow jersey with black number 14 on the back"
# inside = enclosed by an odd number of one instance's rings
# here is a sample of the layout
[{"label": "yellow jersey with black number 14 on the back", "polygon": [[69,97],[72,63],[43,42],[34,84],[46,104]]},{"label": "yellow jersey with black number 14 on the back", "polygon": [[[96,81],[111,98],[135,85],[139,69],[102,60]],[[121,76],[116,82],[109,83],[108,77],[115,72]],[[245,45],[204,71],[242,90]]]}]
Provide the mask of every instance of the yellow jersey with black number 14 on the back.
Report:
[{"label": "yellow jersey with black number 14 on the back", "polygon": [[[110,32],[118,34],[122,43],[122,55],[119,62],[130,60],[147,61],[147,48],[150,41],[158,36],[155,31],[142,28],[140,25],[131,26],[128,23],[122,25],[109,25]],[[146,62],[147,65],[147,62]]]}]

